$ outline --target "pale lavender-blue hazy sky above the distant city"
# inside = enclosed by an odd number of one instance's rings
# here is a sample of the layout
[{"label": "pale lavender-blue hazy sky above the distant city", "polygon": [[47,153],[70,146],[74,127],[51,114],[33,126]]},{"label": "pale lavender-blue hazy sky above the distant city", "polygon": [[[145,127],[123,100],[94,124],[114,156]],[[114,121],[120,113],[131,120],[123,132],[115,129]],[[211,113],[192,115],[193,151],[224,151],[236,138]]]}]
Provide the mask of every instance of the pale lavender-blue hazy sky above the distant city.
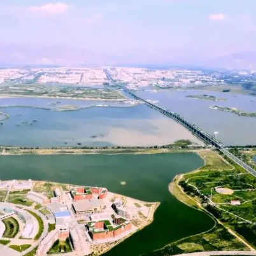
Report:
[{"label": "pale lavender-blue hazy sky above the distant city", "polygon": [[199,64],[256,52],[255,0],[0,0],[0,64]]}]

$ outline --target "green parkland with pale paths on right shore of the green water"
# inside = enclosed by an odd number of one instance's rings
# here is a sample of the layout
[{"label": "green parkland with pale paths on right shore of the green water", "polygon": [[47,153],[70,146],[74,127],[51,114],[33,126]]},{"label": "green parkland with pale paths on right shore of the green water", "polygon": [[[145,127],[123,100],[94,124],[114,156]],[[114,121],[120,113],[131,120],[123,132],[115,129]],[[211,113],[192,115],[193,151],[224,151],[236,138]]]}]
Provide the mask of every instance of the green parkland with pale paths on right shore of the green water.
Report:
[{"label": "green parkland with pale paths on right shore of the green water", "polygon": [[[256,243],[250,232],[254,226],[252,223],[256,221],[251,213],[253,211],[251,202],[256,199],[256,192],[250,192],[250,189],[246,190],[245,183],[248,182],[247,180],[253,180],[253,184],[254,182],[256,184],[256,178],[245,173],[235,164],[227,162],[217,152],[201,150],[198,154],[205,161],[204,167],[190,173],[178,174],[169,184],[169,191],[182,203],[206,212],[215,219],[217,227],[203,235],[198,234],[171,243],[161,250],[147,253],[147,256],[163,255],[163,253],[176,255],[209,250],[250,250],[255,252]],[[238,178],[234,178],[235,176]],[[218,194],[215,192],[215,187],[218,187],[218,184],[221,186],[225,184],[225,187],[233,189],[240,188],[240,190],[236,190],[238,192],[234,192],[233,196]],[[232,206],[230,203],[232,200],[239,200],[241,206]],[[239,208],[243,208],[245,213],[241,214]],[[241,222],[241,219],[244,222]],[[218,243],[217,239],[219,239]],[[206,245],[206,241],[208,245]]]}]

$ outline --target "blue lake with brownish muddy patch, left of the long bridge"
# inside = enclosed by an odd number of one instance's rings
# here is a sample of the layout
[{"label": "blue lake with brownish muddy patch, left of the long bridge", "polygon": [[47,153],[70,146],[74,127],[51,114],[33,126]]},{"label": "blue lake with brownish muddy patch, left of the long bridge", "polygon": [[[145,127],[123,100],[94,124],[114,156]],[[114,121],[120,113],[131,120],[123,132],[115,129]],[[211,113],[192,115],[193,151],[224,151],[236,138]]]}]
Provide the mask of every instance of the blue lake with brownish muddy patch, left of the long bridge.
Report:
[{"label": "blue lake with brownish muddy patch, left of the long bridge", "polygon": [[[41,109],[52,108],[50,103],[56,101],[81,108],[92,104],[109,104],[111,107],[74,111]],[[202,144],[184,127],[144,104],[131,106],[104,101],[22,97],[0,99],[0,106],[0,111],[10,115],[0,126],[0,145],[154,146],[171,144],[178,139]]]}]

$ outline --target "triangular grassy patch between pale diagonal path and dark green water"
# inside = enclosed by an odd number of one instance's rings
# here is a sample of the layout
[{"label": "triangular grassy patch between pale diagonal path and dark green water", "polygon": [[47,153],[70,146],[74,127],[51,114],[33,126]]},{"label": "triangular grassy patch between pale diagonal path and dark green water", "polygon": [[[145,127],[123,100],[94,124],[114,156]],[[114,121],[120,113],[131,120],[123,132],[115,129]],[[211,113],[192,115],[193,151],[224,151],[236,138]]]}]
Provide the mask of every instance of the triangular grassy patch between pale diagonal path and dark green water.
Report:
[{"label": "triangular grassy patch between pale diagonal path and dark green water", "polygon": [[182,253],[228,250],[247,250],[247,248],[232,236],[225,227],[217,224],[211,231],[181,239],[160,250],[145,253],[143,256],[166,256]]}]

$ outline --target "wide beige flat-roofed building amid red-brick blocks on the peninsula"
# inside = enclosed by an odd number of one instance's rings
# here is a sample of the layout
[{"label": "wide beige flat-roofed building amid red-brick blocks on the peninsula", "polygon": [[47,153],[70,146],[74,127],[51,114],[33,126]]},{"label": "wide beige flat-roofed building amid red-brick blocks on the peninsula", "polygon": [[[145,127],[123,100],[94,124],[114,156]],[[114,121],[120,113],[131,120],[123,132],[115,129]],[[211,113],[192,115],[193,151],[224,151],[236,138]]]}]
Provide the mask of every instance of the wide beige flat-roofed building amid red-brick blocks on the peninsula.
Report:
[{"label": "wide beige flat-roofed building amid red-brick blocks on the peninsula", "polygon": [[106,209],[103,199],[84,199],[73,203],[76,214],[101,213]]}]

